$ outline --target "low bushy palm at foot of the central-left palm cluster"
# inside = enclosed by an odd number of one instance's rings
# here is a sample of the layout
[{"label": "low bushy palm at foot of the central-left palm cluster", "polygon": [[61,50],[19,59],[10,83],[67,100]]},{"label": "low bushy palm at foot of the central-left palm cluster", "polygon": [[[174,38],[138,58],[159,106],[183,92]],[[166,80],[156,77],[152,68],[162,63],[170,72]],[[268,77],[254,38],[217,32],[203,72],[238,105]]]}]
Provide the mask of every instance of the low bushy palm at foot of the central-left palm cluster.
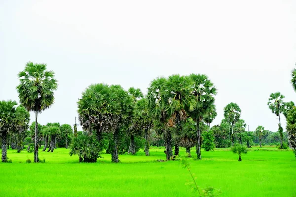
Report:
[{"label": "low bushy palm at foot of the central-left palm cluster", "polygon": [[101,147],[94,135],[78,135],[72,139],[70,156],[78,155],[79,162],[96,162],[100,157]]}]

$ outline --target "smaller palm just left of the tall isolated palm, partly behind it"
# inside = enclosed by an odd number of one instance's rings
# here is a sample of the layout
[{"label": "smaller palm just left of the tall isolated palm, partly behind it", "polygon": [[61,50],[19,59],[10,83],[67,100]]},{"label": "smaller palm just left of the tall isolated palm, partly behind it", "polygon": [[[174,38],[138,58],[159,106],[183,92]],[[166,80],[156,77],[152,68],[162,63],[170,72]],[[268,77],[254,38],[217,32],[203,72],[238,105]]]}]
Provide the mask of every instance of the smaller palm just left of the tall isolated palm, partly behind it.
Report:
[{"label": "smaller palm just left of the tall isolated palm, partly behind it", "polygon": [[18,106],[16,108],[16,127],[17,130],[17,152],[20,153],[23,149],[23,135],[29,128],[30,114],[26,108]]}]

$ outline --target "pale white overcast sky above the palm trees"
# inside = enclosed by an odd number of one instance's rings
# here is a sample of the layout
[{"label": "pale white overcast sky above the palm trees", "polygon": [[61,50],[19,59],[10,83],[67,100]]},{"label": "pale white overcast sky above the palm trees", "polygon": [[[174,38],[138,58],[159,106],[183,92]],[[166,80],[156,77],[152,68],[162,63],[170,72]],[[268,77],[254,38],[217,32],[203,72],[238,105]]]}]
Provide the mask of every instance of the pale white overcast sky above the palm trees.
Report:
[{"label": "pale white overcast sky above the palm trees", "polygon": [[41,124],[73,125],[92,83],[146,93],[157,76],[204,73],[218,88],[214,124],[236,102],[250,131],[277,131],[270,93],[296,102],[296,0],[0,0],[0,100],[18,101],[28,61],[59,80]]}]

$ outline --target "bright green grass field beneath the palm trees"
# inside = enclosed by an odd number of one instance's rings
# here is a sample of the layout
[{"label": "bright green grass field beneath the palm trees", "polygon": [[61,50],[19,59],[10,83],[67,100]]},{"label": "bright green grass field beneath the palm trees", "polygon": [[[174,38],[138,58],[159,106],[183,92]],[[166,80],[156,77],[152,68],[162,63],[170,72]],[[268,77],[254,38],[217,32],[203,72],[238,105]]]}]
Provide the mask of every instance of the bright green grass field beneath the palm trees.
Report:
[{"label": "bright green grass field beneath the palm trees", "polygon": [[[192,182],[190,174],[179,161],[156,161],[165,159],[163,151],[154,147],[149,157],[143,151],[136,156],[120,155],[118,164],[111,163],[111,155],[103,154],[97,163],[84,164],[78,163],[77,156],[70,157],[69,150],[58,148],[53,153],[39,151],[46,163],[28,164],[33,153],[8,150],[12,163],[0,163],[0,196],[193,196],[187,185]],[[185,155],[185,149],[180,155]],[[203,151],[202,157],[201,161],[189,159],[197,185],[219,189],[221,197],[296,197],[292,151],[253,147],[242,155],[242,162],[229,149]]]}]

